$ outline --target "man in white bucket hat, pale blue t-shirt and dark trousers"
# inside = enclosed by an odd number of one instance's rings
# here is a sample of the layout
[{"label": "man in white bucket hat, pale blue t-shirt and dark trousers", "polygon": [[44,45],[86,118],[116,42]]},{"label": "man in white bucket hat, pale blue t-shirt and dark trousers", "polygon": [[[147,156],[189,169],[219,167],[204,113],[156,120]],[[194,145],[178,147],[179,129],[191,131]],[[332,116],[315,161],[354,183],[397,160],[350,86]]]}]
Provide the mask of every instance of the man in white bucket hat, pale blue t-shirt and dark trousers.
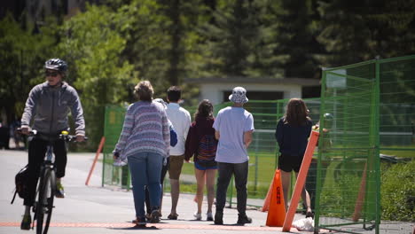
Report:
[{"label": "man in white bucket hat, pale blue t-shirt and dark trousers", "polygon": [[223,207],[226,201],[226,191],[232,175],[235,177],[238,200],[238,223],[252,222],[246,214],[247,210],[247,148],[252,142],[254,132],[254,117],[244,109],[247,103],[247,90],[235,87],[229,100],[233,105],[223,108],[217,113],[213,128],[219,141],[215,160],[218,165],[216,188],[215,224],[223,224]]}]

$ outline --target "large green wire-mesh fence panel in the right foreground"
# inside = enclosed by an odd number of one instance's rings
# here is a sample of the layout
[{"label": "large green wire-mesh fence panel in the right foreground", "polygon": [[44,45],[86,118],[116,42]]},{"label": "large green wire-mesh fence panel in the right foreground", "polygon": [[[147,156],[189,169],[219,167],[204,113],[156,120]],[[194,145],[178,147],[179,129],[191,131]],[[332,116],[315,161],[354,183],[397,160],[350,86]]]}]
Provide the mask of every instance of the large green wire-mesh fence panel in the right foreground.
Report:
[{"label": "large green wire-mesh fence panel in the right foreground", "polygon": [[380,155],[415,152],[414,69],[409,56],[324,70],[316,233],[380,232]]}]

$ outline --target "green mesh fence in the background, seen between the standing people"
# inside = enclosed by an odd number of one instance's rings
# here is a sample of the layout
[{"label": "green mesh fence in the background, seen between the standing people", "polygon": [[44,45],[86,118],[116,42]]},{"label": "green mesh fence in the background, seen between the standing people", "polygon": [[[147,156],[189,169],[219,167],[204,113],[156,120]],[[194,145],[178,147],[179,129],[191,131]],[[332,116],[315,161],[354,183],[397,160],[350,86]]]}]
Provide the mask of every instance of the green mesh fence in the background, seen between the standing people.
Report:
[{"label": "green mesh fence in the background, seen between the standing people", "polygon": [[[264,199],[270,186],[270,182],[278,165],[278,144],[275,139],[275,129],[279,118],[286,110],[288,99],[276,101],[250,100],[245,108],[254,116],[254,135],[253,142],[248,149],[249,153],[249,174],[248,174],[248,198]],[[305,99],[309,107],[312,120],[316,123],[319,118],[320,100],[319,98]],[[215,114],[231,103],[215,105]],[[187,108],[191,115],[196,111],[196,107]],[[129,189],[129,170],[127,167],[113,167],[112,151],[121,133],[125,108],[121,106],[106,107],[106,144],[104,147],[104,172],[103,185],[116,185]],[[317,157],[316,157],[317,159]],[[309,171],[307,188],[314,204],[316,187],[316,168],[317,160],[313,160],[312,168]],[[192,163],[185,163],[180,178],[181,191],[195,191],[196,179],[194,178],[194,168]],[[294,186],[294,181],[293,181]],[[168,180],[165,180],[165,191],[169,190]],[[228,203],[230,206],[236,202],[236,193],[233,184],[228,190]],[[233,201],[232,201],[233,200]],[[258,201],[258,200],[257,200]],[[262,206],[262,202],[251,202],[249,206]],[[314,206],[313,206],[314,207]]]}]

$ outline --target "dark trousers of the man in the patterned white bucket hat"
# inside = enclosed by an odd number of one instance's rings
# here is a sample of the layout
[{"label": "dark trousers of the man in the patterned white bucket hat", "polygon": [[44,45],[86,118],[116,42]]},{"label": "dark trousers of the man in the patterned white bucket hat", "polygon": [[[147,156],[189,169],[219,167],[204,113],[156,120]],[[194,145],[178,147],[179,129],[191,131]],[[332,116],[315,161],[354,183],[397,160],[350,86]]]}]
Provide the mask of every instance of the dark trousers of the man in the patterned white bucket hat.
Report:
[{"label": "dark trousers of the man in the patterned white bucket hat", "polygon": [[228,190],[231,177],[235,177],[237,189],[238,213],[246,214],[247,210],[247,175],[248,161],[242,163],[218,162],[218,177],[216,183],[216,213],[223,213],[226,202],[226,191]]}]

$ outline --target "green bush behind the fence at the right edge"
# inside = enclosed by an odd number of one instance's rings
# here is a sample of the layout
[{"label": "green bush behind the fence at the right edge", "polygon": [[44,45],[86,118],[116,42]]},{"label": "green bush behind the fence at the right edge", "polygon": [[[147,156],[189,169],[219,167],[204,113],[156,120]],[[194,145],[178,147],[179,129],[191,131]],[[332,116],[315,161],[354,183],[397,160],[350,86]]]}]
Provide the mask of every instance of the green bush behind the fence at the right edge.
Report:
[{"label": "green bush behind the fence at the right edge", "polygon": [[382,171],[380,191],[382,220],[414,222],[415,160]]}]

